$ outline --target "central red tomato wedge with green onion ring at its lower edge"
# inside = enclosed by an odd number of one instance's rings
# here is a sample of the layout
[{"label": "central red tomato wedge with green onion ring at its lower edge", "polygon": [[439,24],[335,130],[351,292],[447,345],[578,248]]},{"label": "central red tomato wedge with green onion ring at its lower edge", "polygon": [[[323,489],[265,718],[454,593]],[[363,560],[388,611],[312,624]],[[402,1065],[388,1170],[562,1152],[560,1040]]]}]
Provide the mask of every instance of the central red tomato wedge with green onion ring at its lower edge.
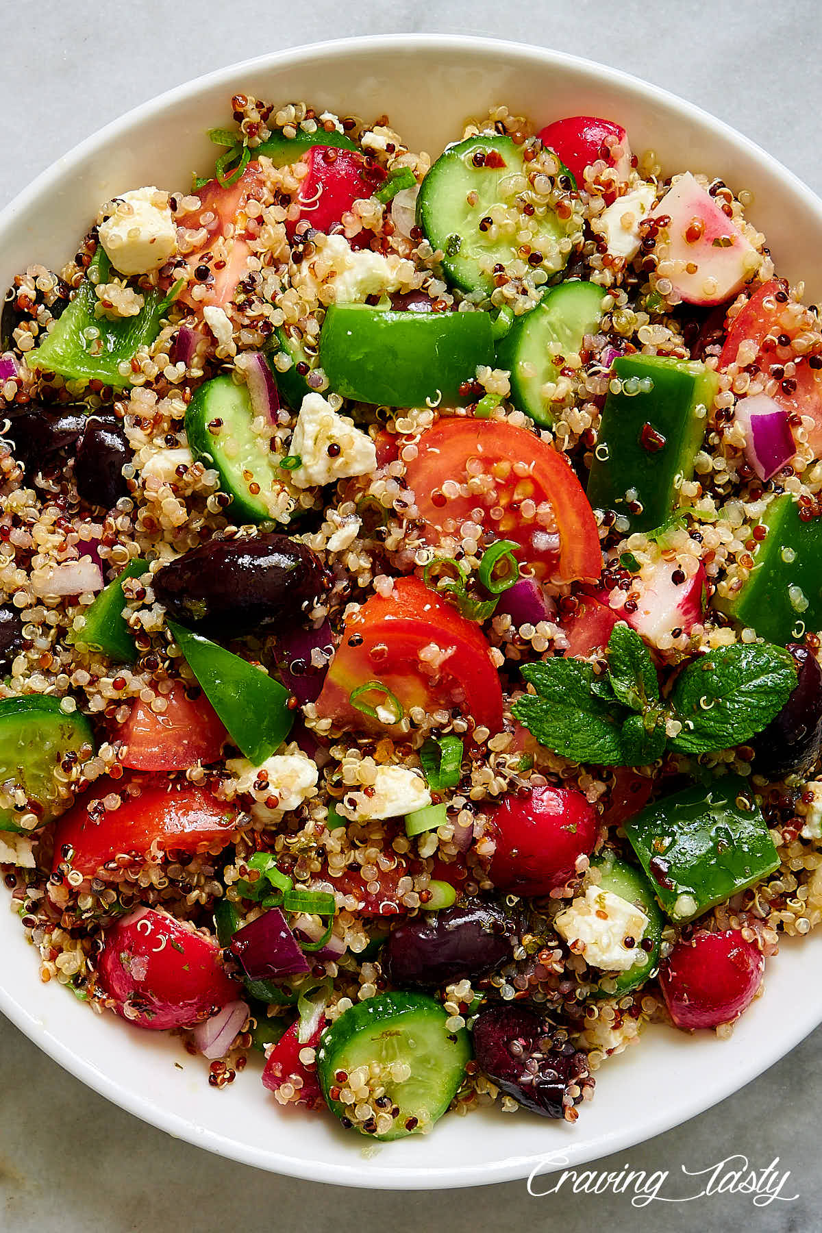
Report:
[{"label": "central red tomato wedge with green onion ring at its lower edge", "polygon": [[[503,721],[499,676],[482,631],[419,578],[396,578],[389,596],[371,596],[345,623],[318,714],[352,727],[391,730],[350,702],[368,681],[391,690],[405,713],[456,707],[492,732]],[[362,700],[376,707],[385,698],[375,692]]]}]

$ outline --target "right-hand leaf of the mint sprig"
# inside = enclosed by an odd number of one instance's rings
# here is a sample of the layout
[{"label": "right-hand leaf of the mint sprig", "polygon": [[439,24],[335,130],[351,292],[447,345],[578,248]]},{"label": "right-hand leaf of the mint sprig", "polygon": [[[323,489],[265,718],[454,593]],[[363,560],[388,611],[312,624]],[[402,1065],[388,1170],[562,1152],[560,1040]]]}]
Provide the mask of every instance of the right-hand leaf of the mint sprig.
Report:
[{"label": "right-hand leaf of the mint sprig", "polygon": [[783,709],[796,667],[781,646],[736,642],[710,651],[680,674],[670,695],[683,730],[672,747],[711,753],[743,745]]}]

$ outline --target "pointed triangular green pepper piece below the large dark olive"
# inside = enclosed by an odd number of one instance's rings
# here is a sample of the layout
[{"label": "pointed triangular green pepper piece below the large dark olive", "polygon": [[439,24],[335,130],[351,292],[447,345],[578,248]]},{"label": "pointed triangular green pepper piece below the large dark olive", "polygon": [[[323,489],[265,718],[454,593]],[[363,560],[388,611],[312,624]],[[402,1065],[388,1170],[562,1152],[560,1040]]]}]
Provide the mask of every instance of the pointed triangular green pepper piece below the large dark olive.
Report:
[{"label": "pointed triangular green pepper piece below the large dark olive", "polygon": [[202,634],[193,634],[174,620],[168,625],[232,741],[254,766],[260,766],[282,745],[293,725],[288,690],[262,668],[255,668]]}]

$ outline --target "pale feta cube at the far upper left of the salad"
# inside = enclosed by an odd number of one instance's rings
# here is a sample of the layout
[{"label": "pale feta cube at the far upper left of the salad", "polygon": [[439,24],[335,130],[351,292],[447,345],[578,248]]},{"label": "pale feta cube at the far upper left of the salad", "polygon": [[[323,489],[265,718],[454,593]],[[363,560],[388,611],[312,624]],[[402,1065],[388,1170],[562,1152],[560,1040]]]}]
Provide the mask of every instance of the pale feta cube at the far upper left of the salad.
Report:
[{"label": "pale feta cube at the far upper left of the salad", "polygon": [[123,192],[99,227],[106,256],[121,274],[159,270],[177,250],[177,231],[168,192],[154,186]]}]

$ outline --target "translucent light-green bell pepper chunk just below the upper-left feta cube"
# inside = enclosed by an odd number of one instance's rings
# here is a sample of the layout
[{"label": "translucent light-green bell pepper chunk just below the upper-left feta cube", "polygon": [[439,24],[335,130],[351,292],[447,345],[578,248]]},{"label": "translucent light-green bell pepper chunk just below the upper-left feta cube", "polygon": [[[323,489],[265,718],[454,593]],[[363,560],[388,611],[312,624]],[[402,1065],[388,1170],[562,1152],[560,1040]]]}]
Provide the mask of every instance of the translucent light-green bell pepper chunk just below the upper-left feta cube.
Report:
[{"label": "translucent light-green bell pepper chunk just below the upper-left feta cube", "polygon": [[[91,281],[92,272],[97,274],[96,282]],[[95,286],[108,282],[110,279],[111,261],[100,247],[71,303],[63,311],[44,342],[28,353],[27,364],[31,369],[58,372],[71,381],[102,381],[116,390],[131,385],[131,376],[123,376],[120,365],[131,360],[138,348],[154,342],[169,300],[163,298],[159,291],[145,291],[140,292],[145,305],[136,317],[97,317],[95,306],[100,301],[95,295]]]}]

